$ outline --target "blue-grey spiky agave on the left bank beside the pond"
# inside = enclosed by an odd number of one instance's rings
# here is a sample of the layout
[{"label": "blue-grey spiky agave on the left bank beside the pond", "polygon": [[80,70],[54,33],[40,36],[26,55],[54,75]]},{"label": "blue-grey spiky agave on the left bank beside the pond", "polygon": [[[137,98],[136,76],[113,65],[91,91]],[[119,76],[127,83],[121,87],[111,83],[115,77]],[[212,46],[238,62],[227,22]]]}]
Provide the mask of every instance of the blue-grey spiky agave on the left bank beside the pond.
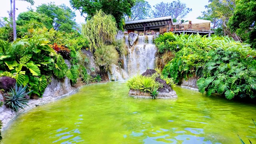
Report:
[{"label": "blue-grey spiky agave on the left bank beside the pond", "polygon": [[28,99],[26,99],[26,95],[31,93],[32,91],[29,91],[26,93],[28,85],[22,88],[22,85],[18,88],[18,85],[16,83],[15,85],[15,90],[10,89],[11,96],[6,97],[7,99],[5,100],[5,105],[7,105],[9,108],[12,108],[16,112],[19,110],[19,108],[24,109],[24,107],[28,106]]}]

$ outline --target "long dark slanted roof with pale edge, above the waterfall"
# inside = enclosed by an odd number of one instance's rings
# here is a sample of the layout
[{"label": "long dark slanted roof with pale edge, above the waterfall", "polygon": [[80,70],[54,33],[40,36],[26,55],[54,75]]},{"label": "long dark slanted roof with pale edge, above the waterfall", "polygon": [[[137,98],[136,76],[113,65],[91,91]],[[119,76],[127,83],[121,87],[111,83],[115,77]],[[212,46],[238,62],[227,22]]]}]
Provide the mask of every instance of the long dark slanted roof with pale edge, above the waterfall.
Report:
[{"label": "long dark slanted roof with pale edge, above the waterfall", "polygon": [[172,24],[172,17],[166,16],[161,18],[150,18],[145,20],[134,20],[125,22],[125,29],[137,29],[145,27],[156,27],[156,26],[166,26]]}]

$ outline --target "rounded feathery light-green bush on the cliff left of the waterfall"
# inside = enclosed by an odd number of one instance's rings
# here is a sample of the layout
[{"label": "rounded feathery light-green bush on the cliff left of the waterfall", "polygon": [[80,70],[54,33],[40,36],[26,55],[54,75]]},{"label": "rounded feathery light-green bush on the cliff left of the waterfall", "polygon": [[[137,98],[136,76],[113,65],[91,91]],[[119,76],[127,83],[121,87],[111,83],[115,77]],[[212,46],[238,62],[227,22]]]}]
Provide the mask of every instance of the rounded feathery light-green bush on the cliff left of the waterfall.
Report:
[{"label": "rounded feathery light-green bush on the cliff left of the waterfall", "polygon": [[119,55],[113,45],[103,45],[100,49],[97,49],[94,53],[95,63],[104,67],[107,71],[110,65],[117,64]]}]

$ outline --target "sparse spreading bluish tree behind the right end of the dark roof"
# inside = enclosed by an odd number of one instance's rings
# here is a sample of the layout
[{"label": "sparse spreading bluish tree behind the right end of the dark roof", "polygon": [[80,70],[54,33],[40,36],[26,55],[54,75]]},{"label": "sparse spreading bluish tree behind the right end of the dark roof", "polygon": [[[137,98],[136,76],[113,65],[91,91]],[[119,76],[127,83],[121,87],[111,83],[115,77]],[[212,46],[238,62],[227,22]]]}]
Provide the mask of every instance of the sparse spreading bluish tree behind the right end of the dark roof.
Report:
[{"label": "sparse spreading bluish tree behind the right end of the dark roof", "polygon": [[161,2],[154,6],[155,10],[153,11],[153,16],[155,18],[164,17],[164,16],[172,16],[172,18],[176,20],[181,20],[184,18],[189,12],[192,11],[191,8],[187,8],[186,4],[181,3],[180,0],[173,1],[171,3]]}]

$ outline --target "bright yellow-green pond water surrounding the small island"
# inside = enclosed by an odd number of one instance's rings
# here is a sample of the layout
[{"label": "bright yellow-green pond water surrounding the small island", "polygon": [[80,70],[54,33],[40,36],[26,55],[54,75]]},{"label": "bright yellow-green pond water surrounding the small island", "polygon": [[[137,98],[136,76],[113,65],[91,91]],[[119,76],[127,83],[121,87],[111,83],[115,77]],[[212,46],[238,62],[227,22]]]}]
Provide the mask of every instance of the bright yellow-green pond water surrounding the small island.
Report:
[{"label": "bright yellow-green pond water surrounding the small island", "polygon": [[36,107],[3,132],[3,144],[256,143],[255,105],[176,88],[176,100],[128,97],[125,82],[82,88]]}]

